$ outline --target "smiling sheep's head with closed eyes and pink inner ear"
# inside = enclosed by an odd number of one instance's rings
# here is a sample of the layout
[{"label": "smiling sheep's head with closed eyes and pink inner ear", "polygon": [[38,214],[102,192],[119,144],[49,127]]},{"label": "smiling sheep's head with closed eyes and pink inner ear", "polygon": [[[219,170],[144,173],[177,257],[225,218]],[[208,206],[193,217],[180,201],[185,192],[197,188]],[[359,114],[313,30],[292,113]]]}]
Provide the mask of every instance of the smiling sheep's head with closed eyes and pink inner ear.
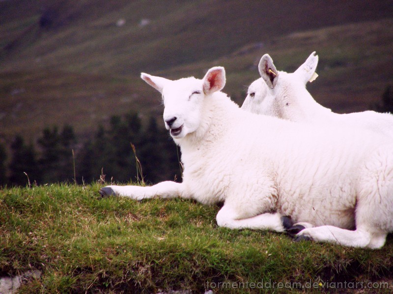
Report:
[{"label": "smiling sheep's head with closed eyes and pink inner ear", "polygon": [[203,100],[225,86],[223,67],[211,68],[203,79],[187,77],[169,80],[147,73],[141,73],[140,77],[162,94],[165,127],[174,139],[181,139],[197,130]]}]

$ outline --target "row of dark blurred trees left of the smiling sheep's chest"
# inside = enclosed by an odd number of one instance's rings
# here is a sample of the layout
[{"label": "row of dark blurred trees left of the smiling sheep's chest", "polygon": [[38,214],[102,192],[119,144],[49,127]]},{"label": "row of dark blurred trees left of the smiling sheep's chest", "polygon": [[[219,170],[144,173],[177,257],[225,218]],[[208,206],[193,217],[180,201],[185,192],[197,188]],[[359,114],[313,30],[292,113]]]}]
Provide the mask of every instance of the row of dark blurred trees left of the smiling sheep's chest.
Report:
[{"label": "row of dark blurred trees left of the smiling sheep's chest", "polygon": [[0,186],[181,180],[180,151],[168,131],[152,117],[142,125],[136,113],[112,116],[87,139],[68,124],[46,127],[36,145],[16,135],[9,154],[0,145]]}]

